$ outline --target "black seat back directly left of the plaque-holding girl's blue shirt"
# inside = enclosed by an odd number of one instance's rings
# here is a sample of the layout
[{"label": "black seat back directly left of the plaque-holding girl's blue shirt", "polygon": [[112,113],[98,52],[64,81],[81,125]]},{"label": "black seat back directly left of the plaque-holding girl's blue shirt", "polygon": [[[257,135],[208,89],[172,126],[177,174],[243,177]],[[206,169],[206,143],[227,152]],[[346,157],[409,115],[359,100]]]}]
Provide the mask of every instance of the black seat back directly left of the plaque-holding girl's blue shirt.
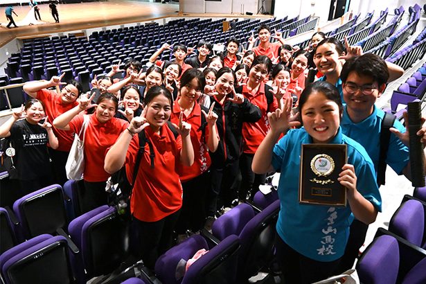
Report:
[{"label": "black seat back directly left of the plaque-holding girl's blue shirt", "polygon": [[237,273],[240,280],[248,281],[272,262],[279,211],[280,200],[276,200],[249,220],[242,229]]}]

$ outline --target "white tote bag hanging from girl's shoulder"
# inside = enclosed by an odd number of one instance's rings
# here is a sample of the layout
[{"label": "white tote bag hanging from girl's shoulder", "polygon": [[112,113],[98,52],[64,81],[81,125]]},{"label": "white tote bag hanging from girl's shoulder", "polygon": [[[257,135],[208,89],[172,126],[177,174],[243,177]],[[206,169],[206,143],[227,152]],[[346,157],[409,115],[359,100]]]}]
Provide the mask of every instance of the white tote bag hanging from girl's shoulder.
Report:
[{"label": "white tote bag hanging from girl's shoulder", "polygon": [[[82,128],[79,134],[74,134],[73,145],[65,164],[66,177],[68,179],[82,179],[83,172],[85,171],[85,136],[90,118],[87,115],[83,117]],[[83,139],[80,139],[81,134],[83,134]]]}]

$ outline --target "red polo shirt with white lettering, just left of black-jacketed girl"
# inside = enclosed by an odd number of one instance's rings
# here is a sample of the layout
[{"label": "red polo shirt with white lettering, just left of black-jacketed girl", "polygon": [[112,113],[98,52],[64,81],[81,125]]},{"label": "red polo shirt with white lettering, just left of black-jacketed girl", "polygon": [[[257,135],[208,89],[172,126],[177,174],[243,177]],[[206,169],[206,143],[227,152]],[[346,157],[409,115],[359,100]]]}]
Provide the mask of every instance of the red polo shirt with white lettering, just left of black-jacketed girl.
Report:
[{"label": "red polo shirt with white lettering, just left of black-jacketed girl", "polygon": [[[179,115],[181,113],[181,108],[179,107],[179,103],[175,100],[173,104],[172,115],[170,116],[170,121],[172,123],[179,123]],[[202,130],[199,129],[202,123],[202,114],[201,107],[198,103],[195,103],[193,107],[193,111],[189,114],[189,116],[185,116],[183,121],[189,123],[191,125],[190,128],[190,141],[193,143],[194,148],[194,163],[193,166],[187,167],[179,163],[179,175],[181,181],[189,181],[194,177],[198,177],[203,172],[206,172],[211,165],[210,155],[208,154],[208,149],[206,142],[208,141],[208,136],[210,135],[208,132],[208,126],[204,128],[205,137],[202,136]]]}]

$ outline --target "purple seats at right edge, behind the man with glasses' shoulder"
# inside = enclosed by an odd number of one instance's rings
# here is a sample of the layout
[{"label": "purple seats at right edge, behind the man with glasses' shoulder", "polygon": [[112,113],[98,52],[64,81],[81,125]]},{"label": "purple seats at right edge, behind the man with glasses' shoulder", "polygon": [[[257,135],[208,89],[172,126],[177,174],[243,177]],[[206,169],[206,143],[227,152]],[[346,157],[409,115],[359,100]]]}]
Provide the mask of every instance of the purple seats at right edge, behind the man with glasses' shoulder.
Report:
[{"label": "purple seats at right edge, behind the man with glasses' shoulder", "polygon": [[391,97],[391,109],[387,112],[395,114],[398,119],[402,118],[402,113],[407,108],[407,103],[413,101],[423,101],[426,95],[426,63],[412,76],[402,83],[397,90],[393,91]]}]

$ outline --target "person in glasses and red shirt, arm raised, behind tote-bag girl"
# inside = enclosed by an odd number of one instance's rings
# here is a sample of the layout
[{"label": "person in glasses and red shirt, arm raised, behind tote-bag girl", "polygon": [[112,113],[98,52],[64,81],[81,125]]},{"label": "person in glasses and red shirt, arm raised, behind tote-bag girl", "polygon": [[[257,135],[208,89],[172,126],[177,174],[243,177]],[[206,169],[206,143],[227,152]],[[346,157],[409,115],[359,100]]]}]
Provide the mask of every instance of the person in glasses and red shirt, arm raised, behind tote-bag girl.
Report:
[{"label": "person in glasses and red shirt, arm raised, behind tote-bag girl", "polygon": [[[33,81],[24,85],[24,91],[28,96],[38,98],[44,103],[46,119],[48,119],[51,124],[53,124],[52,122],[57,116],[60,116],[78,105],[76,100],[82,92],[82,86],[76,80],[72,80],[69,83],[61,82],[64,76],[65,73],[62,73],[61,76],[53,76],[49,81]],[[64,86],[60,94],[47,89],[56,86]],[[74,133],[57,130],[55,127],[52,128],[59,141],[59,147],[56,150],[49,148],[49,154],[53,161],[56,182],[63,186],[67,180],[65,163],[66,159],[68,159],[71,145],[73,144]]]}]

